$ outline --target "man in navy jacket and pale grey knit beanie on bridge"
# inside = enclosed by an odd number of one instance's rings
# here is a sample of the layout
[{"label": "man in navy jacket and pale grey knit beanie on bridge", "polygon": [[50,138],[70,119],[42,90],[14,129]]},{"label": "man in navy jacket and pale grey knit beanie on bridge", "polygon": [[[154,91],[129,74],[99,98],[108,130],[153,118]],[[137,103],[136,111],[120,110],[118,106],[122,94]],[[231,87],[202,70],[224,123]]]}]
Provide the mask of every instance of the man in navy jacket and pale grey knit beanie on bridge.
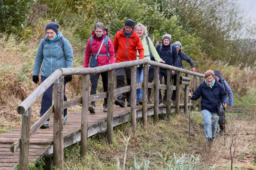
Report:
[{"label": "man in navy jacket and pale grey knit beanie on bridge", "polygon": [[[156,51],[158,52],[160,58],[165,61],[165,64],[172,65],[177,67],[178,65],[178,55],[176,51],[176,47],[171,44],[171,35],[165,34],[163,36],[163,43],[159,44],[156,47]],[[175,74],[175,71],[172,71],[172,75]],[[165,85],[167,85],[167,69],[159,68],[159,81],[162,84],[162,79],[164,77]],[[167,90],[164,92],[163,104],[166,105],[167,100]],[[159,104],[162,101],[161,90],[159,89]]]}]

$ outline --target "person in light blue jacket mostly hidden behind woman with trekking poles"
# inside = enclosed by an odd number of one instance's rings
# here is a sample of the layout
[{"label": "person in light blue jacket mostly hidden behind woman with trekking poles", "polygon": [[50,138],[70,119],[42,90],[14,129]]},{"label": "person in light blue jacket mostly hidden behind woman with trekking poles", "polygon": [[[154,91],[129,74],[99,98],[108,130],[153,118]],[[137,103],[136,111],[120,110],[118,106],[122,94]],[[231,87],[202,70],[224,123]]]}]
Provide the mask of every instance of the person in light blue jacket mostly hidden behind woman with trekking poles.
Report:
[{"label": "person in light blue jacket mostly hidden behind woman with trekking poles", "polygon": [[[227,81],[225,79],[223,79],[223,77],[220,75],[220,72],[218,70],[214,71],[214,78],[221,84],[221,86],[224,88],[224,90],[226,91],[229,101],[227,101],[227,104],[229,105],[229,107],[232,109],[233,107],[233,92],[231,90],[231,88],[229,87]],[[225,130],[225,117],[224,115],[221,115],[219,118],[219,126],[220,126],[220,131],[219,131],[219,135],[222,136]]]}]

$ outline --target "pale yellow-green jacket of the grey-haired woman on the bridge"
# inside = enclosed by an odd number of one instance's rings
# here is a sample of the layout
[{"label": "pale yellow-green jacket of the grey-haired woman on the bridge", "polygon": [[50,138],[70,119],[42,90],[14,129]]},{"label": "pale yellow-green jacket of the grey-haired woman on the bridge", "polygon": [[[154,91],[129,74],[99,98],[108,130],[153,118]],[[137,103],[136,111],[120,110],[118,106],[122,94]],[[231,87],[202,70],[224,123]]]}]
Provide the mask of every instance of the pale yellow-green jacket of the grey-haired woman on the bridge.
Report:
[{"label": "pale yellow-green jacket of the grey-haired woman on the bridge", "polygon": [[[155,49],[155,46],[153,44],[153,42],[151,41],[150,37],[148,37],[149,40],[149,46],[147,44],[146,41],[146,36],[143,35],[142,38],[140,38],[143,48],[144,48],[144,58],[150,60],[150,53],[149,53],[149,49],[152,52],[152,55],[154,56],[155,60],[157,62],[162,61],[162,59],[159,57],[158,52]],[[139,51],[137,50],[137,60],[139,59]]]}]

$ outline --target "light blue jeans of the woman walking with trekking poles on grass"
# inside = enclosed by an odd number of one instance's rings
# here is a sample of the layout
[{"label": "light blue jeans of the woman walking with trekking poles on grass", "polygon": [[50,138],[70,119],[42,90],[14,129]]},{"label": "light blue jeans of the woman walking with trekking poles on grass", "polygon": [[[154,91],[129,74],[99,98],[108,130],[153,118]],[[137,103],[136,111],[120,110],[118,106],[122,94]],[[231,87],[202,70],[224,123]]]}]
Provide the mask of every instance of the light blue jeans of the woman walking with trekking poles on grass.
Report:
[{"label": "light blue jeans of the woman walking with trekking poles on grass", "polygon": [[219,121],[218,112],[209,112],[208,110],[202,110],[202,115],[204,119],[204,132],[206,139],[214,138]]}]

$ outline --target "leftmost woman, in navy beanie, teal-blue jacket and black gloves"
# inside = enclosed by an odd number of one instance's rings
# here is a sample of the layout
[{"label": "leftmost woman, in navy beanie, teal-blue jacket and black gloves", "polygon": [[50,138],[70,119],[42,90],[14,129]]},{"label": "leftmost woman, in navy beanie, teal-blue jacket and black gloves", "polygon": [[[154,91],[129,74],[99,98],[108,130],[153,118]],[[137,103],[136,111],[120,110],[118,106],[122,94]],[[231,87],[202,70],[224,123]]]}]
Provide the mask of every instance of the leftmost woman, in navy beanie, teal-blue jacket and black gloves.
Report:
[{"label": "leftmost woman, in navy beanie, teal-blue jacket and black gloves", "polygon": [[[51,22],[46,25],[46,36],[40,41],[36,54],[33,81],[39,82],[39,71],[41,68],[41,81],[46,80],[58,68],[73,67],[73,49],[69,41],[58,31],[59,25]],[[43,63],[43,64],[42,64]],[[72,80],[72,75],[64,77],[64,101],[67,101],[65,95],[66,83]],[[43,93],[40,116],[52,106],[53,84]],[[67,120],[67,109],[64,109],[64,124]],[[49,127],[48,119],[40,128]]]}]

